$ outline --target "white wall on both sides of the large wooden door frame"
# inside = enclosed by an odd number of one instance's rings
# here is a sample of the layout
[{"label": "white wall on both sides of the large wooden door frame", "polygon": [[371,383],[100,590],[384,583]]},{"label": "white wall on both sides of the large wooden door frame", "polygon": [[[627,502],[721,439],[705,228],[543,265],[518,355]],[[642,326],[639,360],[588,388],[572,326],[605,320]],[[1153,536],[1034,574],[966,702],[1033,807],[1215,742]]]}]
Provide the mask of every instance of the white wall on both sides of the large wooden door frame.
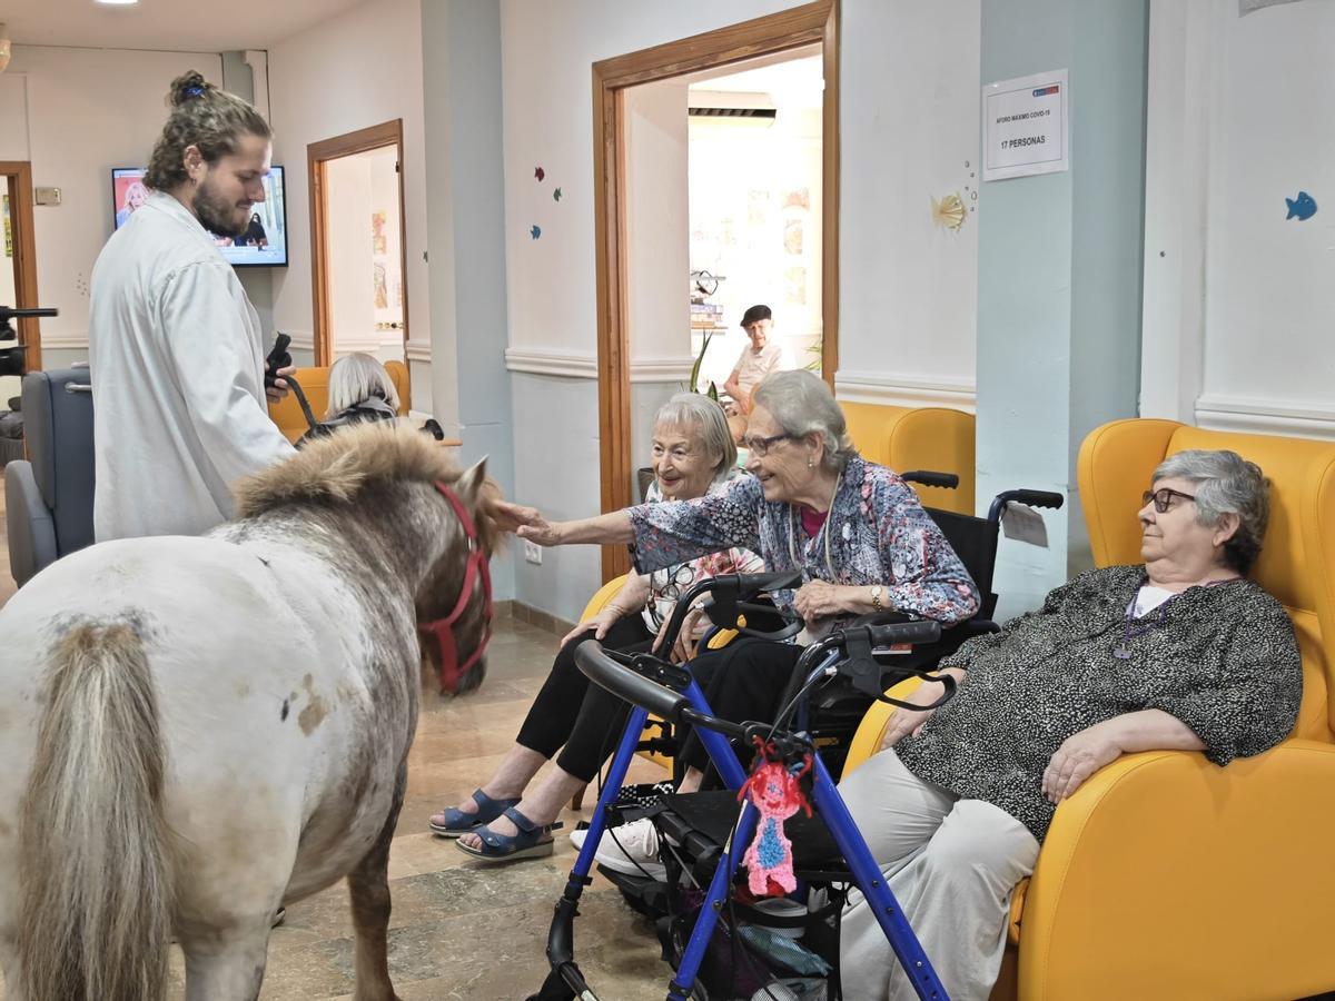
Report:
[{"label": "white wall on both sides of the large wooden door frame", "polygon": [[[511,371],[525,370],[513,376],[522,502],[555,517],[598,510],[591,64],[793,5],[501,0],[507,358]],[[975,186],[964,161],[977,159],[980,0],[844,0],[842,17],[840,351],[856,378],[841,392],[969,402],[976,238],[969,223],[960,234],[934,230],[929,212],[932,195]],[[543,183],[533,176],[539,165]],[[554,448],[566,456],[559,475]],[[522,566],[517,597],[575,618],[597,583],[590,551]]]}]

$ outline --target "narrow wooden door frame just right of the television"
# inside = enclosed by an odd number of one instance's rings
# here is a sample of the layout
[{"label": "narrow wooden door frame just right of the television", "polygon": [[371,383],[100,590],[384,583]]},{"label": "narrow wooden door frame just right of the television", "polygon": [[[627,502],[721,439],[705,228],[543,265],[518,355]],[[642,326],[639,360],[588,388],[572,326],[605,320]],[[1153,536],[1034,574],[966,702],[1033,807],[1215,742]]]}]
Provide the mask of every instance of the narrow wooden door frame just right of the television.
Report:
[{"label": "narrow wooden door frame just right of the television", "polygon": [[328,256],[324,239],[328,228],[328,186],[324,182],[324,165],[340,156],[364,153],[370,149],[383,149],[387,145],[398,148],[399,176],[399,282],[403,287],[403,358],[407,366],[409,342],[409,242],[407,215],[403,212],[403,119],[382,121],[379,125],[360,128],[332,139],[322,139],[306,147],[306,176],[311,191],[311,336],[314,339],[315,364],[328,366],[334,362],[334,346],[330,339],[330,290]]}]

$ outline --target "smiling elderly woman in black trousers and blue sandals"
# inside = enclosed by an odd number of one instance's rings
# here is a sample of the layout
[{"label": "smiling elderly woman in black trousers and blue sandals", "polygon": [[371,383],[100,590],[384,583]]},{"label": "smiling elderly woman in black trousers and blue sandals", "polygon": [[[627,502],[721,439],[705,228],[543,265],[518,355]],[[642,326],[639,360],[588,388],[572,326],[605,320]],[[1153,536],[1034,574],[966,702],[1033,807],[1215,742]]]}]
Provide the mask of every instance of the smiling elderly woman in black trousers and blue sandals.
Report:
[{"label": "smiling elderly woman in black trousers and blue sandals", "polygon": [[[650,503],[689,500],[722,490],[738,475],[737,447],[722,408],[694,392],[678,394],[659,407],[653,470]],[[575,647],[594,637],[613,649],[647,650],[677,598],[693,582],[758,570],[761,562],[754,553],[733,547],[627,578],[602,611],[562,639],[551,674],[495,774],[470,799],[431,817],[431,830],[458,837],[463,852],[487,861],[550,854],[550,831],[559,826],[554,821],[561,806],[594,777],[614,747],[627,711],[615,697],[590,689],[575,666]],[[526,791],[538,769],[558,750],[550,777]]]}]

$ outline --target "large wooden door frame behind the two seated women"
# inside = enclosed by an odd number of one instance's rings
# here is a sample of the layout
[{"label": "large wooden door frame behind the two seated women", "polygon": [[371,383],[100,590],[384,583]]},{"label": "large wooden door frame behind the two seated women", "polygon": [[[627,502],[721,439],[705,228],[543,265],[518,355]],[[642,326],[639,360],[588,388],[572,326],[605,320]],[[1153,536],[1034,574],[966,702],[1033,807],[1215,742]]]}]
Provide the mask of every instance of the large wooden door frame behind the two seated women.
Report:
[{"label": "large wooden door frame behind the two seated women", "polygon": [[[593,168],[598,290],[598,426],[602,510],[631,503],[630,351],[627,343],[625,89],[774,52],[821,45],[821,368],[838,368],[838,21],[840,0],[694,35],[593,64]],[[621,546],[603,546],[602,577],[630,569]]]}]

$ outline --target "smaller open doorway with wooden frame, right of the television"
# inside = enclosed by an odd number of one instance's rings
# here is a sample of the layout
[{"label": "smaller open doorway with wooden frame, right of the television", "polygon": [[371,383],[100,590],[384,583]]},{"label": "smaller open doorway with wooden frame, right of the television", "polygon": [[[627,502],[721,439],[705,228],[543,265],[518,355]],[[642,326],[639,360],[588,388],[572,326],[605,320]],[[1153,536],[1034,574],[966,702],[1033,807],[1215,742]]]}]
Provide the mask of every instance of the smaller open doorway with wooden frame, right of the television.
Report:
[{"label": "smaller open doorway with wooden frame, right of the television", "polygon": [[362,351],[407,363],[400,120],[307,148],[315,363]]}]

